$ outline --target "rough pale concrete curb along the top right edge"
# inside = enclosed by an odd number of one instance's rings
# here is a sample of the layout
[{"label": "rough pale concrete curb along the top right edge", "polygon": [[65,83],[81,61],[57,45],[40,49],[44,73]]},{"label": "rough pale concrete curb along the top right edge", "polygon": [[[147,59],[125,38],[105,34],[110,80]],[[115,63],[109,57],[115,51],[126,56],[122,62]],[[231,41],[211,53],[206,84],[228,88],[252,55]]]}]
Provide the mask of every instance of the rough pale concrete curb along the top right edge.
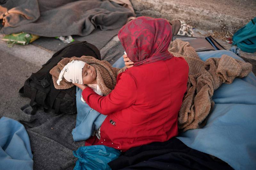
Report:
[{"label": "rough pale concrete curb along the top right edge", "polygon": [[[256,17],[255,0],[131,0],[144,16],[181,19],[204,30],[236,32]],[[249,5],[250,4],[250,5]]]}]

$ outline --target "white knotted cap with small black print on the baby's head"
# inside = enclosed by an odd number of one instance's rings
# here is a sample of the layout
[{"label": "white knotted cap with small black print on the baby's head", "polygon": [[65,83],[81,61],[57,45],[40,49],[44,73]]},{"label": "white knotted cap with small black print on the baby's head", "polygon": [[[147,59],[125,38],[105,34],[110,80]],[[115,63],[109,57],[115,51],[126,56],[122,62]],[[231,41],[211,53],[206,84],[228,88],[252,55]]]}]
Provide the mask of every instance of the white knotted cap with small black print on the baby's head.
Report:
[{"label": "white knotted cap with small black print on the baby's head", "polygon": [[82,70],[84,65],[85,62],[83,61],[72,60],[61,70],[57,84],[60,85],[60,81],[64,77],[68,82],[83,85]]}]

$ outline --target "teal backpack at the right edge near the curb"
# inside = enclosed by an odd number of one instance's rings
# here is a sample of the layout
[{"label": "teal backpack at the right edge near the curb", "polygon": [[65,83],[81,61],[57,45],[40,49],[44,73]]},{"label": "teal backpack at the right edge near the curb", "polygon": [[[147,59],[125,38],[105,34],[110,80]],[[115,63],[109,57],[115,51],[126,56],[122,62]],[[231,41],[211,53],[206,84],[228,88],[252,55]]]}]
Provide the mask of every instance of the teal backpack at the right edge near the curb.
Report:
[{"label": "teal backpack at the right edge near the curb", "polygon": [[232,45],[236,45],[244,52],[256,51],[256,17],[234,34]]}]

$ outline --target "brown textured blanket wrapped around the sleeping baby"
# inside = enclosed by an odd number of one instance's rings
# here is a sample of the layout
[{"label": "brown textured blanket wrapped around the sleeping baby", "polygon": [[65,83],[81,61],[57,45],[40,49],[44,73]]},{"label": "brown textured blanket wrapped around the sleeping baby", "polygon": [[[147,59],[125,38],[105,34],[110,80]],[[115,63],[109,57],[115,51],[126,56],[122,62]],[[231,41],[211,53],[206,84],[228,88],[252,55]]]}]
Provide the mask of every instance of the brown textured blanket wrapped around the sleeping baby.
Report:
[{"label": "brown textured blanket wrapped around the sleeping baby", "polygon": [[95,68],[97,72],[97,78],[96,78],[97,84],[99,85],[103,96],[108,95],[108,93],[110,93],[114,89],[116,85],[117,75],[120,72],[125,70],[125,67],[122,69],[114,68],[107,61],[104,61],[104,60],[100,61],[91,56],[82,56],[80,58],[78,57],[64,58],[55,67],[53,67],[52,70],[50,70],[54,87],[56,89],[68,89],[74,86],[71,82],[65,81],[65,79],[63,79],[60,82],[60,85],[57,84],[60,71],[63,69],[65,65],[67,65],[72,60],[83,61]]}]

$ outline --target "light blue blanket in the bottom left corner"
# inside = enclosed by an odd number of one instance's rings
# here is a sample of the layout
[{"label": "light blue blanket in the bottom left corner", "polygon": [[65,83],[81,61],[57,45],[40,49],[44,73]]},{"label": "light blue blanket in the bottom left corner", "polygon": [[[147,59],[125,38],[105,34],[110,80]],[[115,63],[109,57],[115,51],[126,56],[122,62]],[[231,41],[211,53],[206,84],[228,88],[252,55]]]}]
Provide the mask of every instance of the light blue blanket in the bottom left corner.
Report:
[{"label": "light blue blanket in the bottom left corner", "polygon": [[0,146],[0,169],[33,169],[28,133],[18,121],[7,117],[0,119]]}]

